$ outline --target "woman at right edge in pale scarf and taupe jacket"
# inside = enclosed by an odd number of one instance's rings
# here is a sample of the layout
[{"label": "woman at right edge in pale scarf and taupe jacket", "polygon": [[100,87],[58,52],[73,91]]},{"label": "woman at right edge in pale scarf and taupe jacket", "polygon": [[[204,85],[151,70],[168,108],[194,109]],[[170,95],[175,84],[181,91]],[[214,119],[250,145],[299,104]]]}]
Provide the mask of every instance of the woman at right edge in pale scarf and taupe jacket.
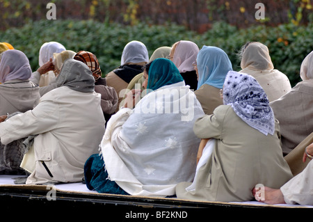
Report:
[{"label": "woman at right edge in pale scarf and taupe jacket", "polygon": [[303,60],[300,77],[303,81],[270,104],[280,122],[284,155],[313,132],[313,51]]}]

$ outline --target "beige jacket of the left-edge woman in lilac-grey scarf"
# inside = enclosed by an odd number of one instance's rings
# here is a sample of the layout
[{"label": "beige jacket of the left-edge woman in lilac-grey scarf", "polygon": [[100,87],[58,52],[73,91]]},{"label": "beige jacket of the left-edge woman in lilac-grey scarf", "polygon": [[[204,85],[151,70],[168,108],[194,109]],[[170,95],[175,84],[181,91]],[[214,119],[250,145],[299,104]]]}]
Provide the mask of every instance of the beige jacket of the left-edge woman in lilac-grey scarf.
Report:
[{"label": "beige jacket of the left-edge woman in lilac-grey scarf", "polygon": [[39,86],[31,81],[6,81],[0,84],[0,116],[17,111],[24,113],[33,109],[39,99]]}]

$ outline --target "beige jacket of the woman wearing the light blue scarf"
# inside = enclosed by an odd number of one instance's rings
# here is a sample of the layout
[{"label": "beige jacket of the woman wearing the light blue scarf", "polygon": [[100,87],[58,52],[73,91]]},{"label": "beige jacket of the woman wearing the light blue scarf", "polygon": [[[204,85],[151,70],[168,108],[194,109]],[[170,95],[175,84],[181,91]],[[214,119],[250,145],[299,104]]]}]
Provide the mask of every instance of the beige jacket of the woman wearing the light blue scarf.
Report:
[{"label": "beige jacket of the woman wearing the light blue scarf", "polygon": [[195,96],[199,100],[205,114],[213,114],[217,106],[223,105],[223,99],[220,97],[220,89],[208,84],[203,84],[198,90],[195,90]]}]

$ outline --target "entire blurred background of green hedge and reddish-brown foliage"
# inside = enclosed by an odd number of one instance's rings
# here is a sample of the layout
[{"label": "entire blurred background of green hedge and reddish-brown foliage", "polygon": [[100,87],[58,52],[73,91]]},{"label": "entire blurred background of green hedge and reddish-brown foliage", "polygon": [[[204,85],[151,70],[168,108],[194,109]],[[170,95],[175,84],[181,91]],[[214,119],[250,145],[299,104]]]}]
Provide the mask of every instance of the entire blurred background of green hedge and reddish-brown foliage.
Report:
[{"label": "entire blurred background of green hedge and reddish-brown foliage", "polygon": [[[44,42],[66,49],[92,51],[105,75],[120,65],[131,40],[150,53],[179,40],[222,48],[234,70],[238,52],[248,41],[268,46],[275,68],[294,86],[303,58],[313,50],[312,0],[0,0],[0,42],[24,51],[33,70]],[[47,3],[56,4],[56,20],[48,20]],[[255,19],[255,4],[264,3],[265,19]]]}]

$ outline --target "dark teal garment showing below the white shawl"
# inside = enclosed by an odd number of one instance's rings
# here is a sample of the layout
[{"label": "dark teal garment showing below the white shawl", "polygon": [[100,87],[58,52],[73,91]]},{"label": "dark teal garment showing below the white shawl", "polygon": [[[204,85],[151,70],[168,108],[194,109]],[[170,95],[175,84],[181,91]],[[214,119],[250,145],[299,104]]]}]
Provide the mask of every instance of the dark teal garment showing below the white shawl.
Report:
[{"label": "dark teal garment showing below the white shawl", "polygon": [[109,180],[108,172],[104,168],[104,161],[99,154],[93,154],[87,159],[84,174],[86,186],[91,191],[129,195],[116,182]]}]

